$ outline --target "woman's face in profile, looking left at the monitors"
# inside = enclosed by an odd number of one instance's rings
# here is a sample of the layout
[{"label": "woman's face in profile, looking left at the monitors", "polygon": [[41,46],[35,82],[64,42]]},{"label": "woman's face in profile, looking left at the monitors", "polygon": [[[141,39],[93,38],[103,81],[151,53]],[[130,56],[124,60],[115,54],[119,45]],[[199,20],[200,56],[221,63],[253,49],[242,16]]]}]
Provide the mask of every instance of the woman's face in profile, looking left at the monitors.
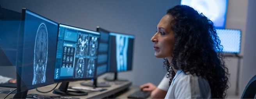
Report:
[{"label": "woman's face in profile, looking left at the monitors", "polygon": [[172,16],[165,15],[157,25],[157,32],[151,38],[157,58],[171,57],[174,47],[174,32],[171,30]]}]

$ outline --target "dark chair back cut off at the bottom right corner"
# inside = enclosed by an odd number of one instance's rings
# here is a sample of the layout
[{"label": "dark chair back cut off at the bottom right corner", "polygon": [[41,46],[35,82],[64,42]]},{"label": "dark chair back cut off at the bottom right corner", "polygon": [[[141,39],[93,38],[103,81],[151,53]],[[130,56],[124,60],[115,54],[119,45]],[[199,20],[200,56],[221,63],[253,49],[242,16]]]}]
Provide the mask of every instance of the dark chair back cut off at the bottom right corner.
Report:
[{"label": "dark chair back cut off at the bottom right corner", "polygon": [[247,86],[245,87],[244,93],[242,94],[241,99],[256,97],[256,75],[252,77]]}]

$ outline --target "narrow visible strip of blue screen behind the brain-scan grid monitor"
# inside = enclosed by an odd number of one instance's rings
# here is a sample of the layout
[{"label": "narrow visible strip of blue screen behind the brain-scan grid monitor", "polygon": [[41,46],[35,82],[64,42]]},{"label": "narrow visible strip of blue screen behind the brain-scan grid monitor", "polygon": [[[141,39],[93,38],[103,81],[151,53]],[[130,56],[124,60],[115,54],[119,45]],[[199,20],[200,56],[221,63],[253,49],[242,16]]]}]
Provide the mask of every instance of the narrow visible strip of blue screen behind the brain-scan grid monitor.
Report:
[{"label": "narrow visible strip of blue screen behind the brain-scan grid monitor", "polygon": [[100,27],[97,27],[97,32],[101,33],[98,54],[98,66],[96,71],[98,77],[107,72],[109,32]]}]

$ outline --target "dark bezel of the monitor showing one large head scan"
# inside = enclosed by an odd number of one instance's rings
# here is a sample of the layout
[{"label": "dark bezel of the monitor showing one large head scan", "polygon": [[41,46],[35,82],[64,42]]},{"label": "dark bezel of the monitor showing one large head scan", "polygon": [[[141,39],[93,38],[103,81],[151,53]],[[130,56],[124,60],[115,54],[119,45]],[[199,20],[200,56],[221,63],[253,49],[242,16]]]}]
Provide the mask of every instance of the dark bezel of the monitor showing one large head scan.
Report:
[{"label": "dark bezel of the monitor showing one large head scan", "polygon": [[[18,43],[17,43],[17,65],[16,65],[16,79],[17,79],[17,91],[18,92],[25,92],[27,90],[30,90],[30,89],[34,89],[34,88],[37,88],[37,87],[44,87],[44,86],[47,86],[47,85],[51,85],[54,83],[54,80],[52,81],[48,81],[48,82],[45,82],[45,83],[39,83],[39,84],[36,84],[36,85],[30,85],[30,86],[21,86],[21,83],[24,83],[24,81],[22,80],[22,62],[23,62],[23,41],[24,41],[24,30],[25,30],[25,14],[26,12],[31,12],[33,14],[36,14],[40,17],[43,17],[45,18],[44,16],[41,16],[33,11],[30,11],[26,8],[22,8],[22,12],[21,12],[21,24],[20,24],[20,32],[18,33]],[[48,18],[45,18],[47,19],[48,21],[51,21],[52,23],[55,23],[55,24],[58,24],[56,23],[55,21],[52,21]],[[54,64],[55,65],[55,64]],[[54,72],[54,71],[53,71]]]}]

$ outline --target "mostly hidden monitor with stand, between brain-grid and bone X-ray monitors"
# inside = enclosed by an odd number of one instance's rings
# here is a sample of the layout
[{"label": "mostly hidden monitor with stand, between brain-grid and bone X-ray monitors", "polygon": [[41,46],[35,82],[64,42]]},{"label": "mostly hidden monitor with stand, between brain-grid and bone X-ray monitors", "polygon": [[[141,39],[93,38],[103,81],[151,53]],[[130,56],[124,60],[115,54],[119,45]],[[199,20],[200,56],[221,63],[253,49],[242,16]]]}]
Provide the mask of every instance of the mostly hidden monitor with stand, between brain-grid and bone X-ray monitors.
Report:
[{"label": "mostly hidden monitor with stand, between brain-grid and bone X-ray monitors", "polygon": [[98,53],[98,66],[96,71],[96,76],[92,82],[83,82],[81,85],[91,86],[91,87],[110,87],[107,83],[97,83],[98,76],[107,72],[108,67],[108,46],[109,46],[109,31],[103,28],[97,27],[97,32],[101,33],[99,42],[99,53]]}]

